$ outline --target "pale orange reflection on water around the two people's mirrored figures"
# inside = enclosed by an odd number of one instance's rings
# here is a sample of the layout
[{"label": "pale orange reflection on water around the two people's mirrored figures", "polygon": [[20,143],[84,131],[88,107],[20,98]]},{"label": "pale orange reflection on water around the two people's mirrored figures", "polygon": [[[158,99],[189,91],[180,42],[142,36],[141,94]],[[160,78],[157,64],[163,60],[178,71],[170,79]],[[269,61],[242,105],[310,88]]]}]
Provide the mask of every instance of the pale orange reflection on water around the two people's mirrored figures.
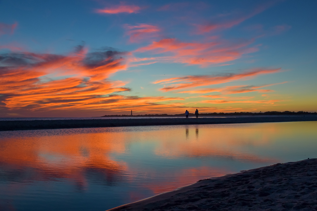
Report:
[{"label": "pale orange reflection on water around the two people's mirrored figures", "polygon": [[243,152],[236,148],[246,144],[255,146],[267,144],[268,135],[258,134],[254,128],[230,128],[228,130],[228,128],[215,127],[206,130],[204,126],[197,126],[191,131],[186,128],[182,138],[179,138],[179,133],[174,131],[165,131],[164,136],[156,135],[156,137],[160,137],[160,146],[155,150],[159,156],[170,158],[226,156],[252,162],[276,161],[276,159],[262,158],[252,152]]}]

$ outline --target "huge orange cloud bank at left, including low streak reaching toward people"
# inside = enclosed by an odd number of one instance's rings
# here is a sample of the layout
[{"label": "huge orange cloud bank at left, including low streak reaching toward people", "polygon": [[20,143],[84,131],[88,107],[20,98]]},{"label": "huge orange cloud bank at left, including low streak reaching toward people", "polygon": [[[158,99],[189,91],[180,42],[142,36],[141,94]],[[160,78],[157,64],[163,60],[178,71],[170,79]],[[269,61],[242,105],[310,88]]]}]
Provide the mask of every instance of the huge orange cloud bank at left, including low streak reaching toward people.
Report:
[{"label": "huge orange cloud bank at left, including low streak reaching toward people", "polygon": [[122,81],[107,79],[126,68],[126,53],[87,52],[78,46],[67,56],[9,53],[0,55],[0,107],[15,111],[179,112],[186,108],[179,97],[123,96],[130,91]]}]

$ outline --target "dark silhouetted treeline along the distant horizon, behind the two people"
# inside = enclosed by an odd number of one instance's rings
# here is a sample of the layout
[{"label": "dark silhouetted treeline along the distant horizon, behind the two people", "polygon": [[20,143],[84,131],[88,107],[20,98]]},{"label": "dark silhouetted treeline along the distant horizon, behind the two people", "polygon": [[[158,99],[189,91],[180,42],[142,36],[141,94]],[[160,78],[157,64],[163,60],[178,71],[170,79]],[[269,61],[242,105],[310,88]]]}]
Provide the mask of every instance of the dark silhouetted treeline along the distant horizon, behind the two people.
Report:
[{"label": "dark silhouetted treeline along the distant horizon, behind the two people", "polygon": [[[208,114],[199,114],[199,116],[245,116],[245,115],[317,115],[316,112],[305,112],[305,111],[298,111],[298,112],[292,112],[292,111],[267,111],[267,112],[259,112],[259,113],[251,113],[251,112],[235,112],[235,113],[208,113]],[[146,117],[146,116],[184,116],[184,114],[145,114],[145,115],[133,115],[135,117]],[[131,116],[131,115],[104,115],[101,117],[125,117],[125,116]],[[189,113],[189,116],[195,116],[193,113]]]}]

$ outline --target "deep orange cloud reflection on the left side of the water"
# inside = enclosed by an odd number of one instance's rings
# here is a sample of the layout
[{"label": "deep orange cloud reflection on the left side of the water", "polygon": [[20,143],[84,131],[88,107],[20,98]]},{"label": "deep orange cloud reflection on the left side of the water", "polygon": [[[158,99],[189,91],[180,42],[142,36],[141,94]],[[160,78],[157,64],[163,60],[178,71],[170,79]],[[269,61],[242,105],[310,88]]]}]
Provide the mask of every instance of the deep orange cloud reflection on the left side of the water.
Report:
[{"label": "deep orange cloud reflection on the left side of the water", "polygon": [[86,184],[85,174],[98,172],[100,177],[111,182],[120,178],[120,172],[126,171],[124,162],[114,161],[108,154],[110,151],[124,152],[123,142],[112,140],[120,140],[120,134],[9,138],[1,142],[0,161],[5,166],[37,169],[40,174],[25,178],[29,180],[68,178]]}]

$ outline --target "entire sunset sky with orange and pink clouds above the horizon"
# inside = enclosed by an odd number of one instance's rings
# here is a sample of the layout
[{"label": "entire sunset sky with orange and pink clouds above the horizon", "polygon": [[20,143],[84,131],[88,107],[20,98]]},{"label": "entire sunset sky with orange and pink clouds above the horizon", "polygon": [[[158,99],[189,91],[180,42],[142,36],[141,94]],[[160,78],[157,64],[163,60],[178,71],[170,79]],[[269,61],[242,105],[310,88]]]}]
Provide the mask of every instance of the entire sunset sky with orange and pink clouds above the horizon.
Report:
[{"label": "entire sunset sky with orange and pink clouds above the horizon", "polygon": [[0,0],[0,117],[315,112],[316,8]]}]

